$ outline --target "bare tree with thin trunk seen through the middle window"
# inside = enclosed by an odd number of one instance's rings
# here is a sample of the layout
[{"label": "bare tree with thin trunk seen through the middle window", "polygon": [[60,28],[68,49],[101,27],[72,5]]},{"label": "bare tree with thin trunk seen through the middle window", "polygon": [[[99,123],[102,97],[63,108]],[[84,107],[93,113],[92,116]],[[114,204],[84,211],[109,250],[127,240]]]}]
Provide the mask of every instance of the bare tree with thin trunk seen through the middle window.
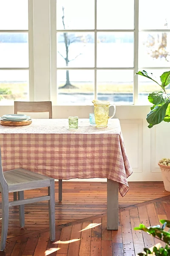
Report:
[{"label": "bare tree with thin trunk seen through the middle window", "polygon": [[[63,27],[65,29],[64,18],[65,18],[65,16],[64,16],[64,7],[62,6],[62,24],[63,24]],[[65,60],[66,67],[68,67],[68,63],[70,61],[75,60],[77,57],[82,55],[82,53],[79,53],[75,58],[70,60],[69,57],[68,57],[69,47],[70,47],[71,43],[81,42],[83,37],[82,36],[77,37],[77,36],[75,36],[75,33],[68,34],[68,32],[64,32],[63,37],[64,37],[64,43],[65,43],[65,57],[59,51],[58,51],[58,53]],[[65,88],[65,89],[77,88],[76,86],[74,86],[70,83],[69,70],[66,70],[66,83],[65,83],[65,85],[59,87],[59,89],[63,89],[63,88]]]}]

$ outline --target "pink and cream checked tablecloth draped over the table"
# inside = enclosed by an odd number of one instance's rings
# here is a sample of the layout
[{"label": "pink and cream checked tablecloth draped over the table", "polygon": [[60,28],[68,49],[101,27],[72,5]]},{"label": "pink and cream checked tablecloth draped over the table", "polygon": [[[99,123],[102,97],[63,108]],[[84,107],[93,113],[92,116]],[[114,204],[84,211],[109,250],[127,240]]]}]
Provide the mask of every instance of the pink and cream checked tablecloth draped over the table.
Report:
[{"label": "pink and cream checked tablecloth draped over the table", "polygon": [[25,127],[0,125],[3,170],[25,168],[57,179],[109,178],[119,182],[119,192],[129,190],[132,173],[119,119],[96,128],[79,119],[68,129],[68,119],[33,119]]}]

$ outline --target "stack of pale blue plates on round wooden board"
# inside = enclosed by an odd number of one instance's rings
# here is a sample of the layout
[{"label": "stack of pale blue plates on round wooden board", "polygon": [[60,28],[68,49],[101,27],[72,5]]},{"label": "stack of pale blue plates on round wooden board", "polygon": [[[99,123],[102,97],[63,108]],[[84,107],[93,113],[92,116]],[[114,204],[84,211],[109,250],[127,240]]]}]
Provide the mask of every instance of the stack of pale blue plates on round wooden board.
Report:
[{"label": "stack of pale blue plates on round wooden board", "polygon": [[32,121],[28,115],[9,114],[0,118],[0,124],[6,126],[24,126],[31,124]]}]

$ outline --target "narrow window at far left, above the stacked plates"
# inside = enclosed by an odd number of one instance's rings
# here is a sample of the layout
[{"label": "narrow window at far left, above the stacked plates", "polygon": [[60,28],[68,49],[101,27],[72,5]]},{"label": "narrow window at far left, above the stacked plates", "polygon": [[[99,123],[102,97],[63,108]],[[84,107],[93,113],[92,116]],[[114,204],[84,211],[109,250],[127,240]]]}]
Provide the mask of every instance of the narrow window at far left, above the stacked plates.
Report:
[{"label": "narrow window at far left, above the stacked plates", "polygon": [[0,0],[0,105],[29,100],[28,0]]}]

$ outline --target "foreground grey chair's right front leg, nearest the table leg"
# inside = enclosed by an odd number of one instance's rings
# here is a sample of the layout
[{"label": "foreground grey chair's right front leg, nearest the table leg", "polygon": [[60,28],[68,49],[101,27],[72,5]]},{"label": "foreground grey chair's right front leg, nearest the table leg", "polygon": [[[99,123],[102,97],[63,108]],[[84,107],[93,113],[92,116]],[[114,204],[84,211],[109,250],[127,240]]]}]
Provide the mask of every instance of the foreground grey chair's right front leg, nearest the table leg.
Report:
[{"label": "foreground grey chair's right front leg, nearest the table leg", "polygon": [[48,211],[49,211],[49,222],[50,222],[50,239],[55,240],[55,185],[54,180],[50,180],[50,187],[48,187]]}]

